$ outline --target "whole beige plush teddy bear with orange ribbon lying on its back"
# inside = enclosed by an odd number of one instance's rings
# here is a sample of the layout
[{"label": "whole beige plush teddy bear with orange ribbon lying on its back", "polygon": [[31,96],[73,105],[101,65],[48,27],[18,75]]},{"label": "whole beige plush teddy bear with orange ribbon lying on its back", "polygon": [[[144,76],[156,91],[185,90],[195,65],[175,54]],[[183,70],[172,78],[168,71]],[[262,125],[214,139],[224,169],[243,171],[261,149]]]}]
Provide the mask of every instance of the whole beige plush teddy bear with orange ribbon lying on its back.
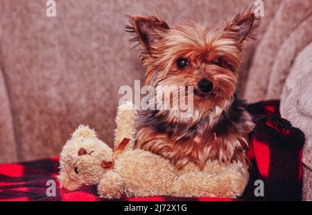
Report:
[{"label": "whole beige plush teddy bear with orange ribbon lying on its back", "polygon": [[103,198],[241,196],[249,179],[244,165],[211,160],[202,170],[193,163],[178,170],[161,156],[135,149],[136,120],[133,104],[119,106],[113,152],[98,140],[93,130],[78,127],[62,149],[59,176],[62,187],[76,189],[98,184],[98,194]]}]

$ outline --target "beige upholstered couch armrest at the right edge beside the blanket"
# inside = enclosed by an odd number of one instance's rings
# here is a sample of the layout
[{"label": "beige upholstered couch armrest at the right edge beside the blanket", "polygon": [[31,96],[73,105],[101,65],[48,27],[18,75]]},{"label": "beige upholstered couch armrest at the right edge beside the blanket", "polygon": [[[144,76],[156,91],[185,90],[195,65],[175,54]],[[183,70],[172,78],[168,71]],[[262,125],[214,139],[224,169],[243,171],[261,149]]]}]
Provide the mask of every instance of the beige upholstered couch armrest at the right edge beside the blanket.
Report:
[{"label": "beige upholstered couch armrest at the right edge beside the blanket", "polygon": [[283,118],[304,132],[303,198],[312,200],[312,42],[296,57],[281,94]]}]

